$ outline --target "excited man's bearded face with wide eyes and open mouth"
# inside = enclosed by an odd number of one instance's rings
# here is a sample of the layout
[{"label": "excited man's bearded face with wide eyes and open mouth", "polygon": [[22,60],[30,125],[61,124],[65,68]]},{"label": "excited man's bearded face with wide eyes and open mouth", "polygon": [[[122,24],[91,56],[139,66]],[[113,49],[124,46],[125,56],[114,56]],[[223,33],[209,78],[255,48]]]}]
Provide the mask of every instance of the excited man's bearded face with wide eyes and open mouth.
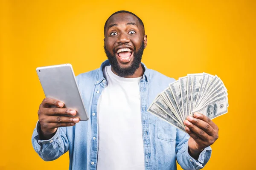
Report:
[{"label": "excited man's bearded face with wide eyes and open mouth", "polygon": [[113,15],[108,20],[104,41],[113,71],[120,77],[133,75],[147,45],[147,37],[137,17],[128,13]]}]

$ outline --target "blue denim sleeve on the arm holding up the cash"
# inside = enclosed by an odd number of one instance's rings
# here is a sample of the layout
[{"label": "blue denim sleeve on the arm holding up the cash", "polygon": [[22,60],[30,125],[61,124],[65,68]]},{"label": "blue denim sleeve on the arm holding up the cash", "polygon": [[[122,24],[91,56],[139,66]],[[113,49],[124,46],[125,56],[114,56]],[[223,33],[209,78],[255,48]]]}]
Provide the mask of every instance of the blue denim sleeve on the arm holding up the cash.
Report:
[{"label": "blue denim sleeve on the arm holding up the cash", "polygon": [[187,133],[177,129],[175,149],[177,162],[184,170],[200,170],[209,161],[212,149],[211,147],[204,148],[200,153],[198,160],[195,160],[189,155],[189,137],[190,136]]}]

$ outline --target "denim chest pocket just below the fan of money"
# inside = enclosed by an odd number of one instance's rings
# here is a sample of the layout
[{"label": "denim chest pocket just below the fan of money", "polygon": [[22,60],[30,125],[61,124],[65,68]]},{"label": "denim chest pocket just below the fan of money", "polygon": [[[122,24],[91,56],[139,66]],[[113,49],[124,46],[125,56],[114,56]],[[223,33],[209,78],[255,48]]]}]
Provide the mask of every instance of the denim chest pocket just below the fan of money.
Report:
[{"label": "denim chest pocket just below the fan of money", "polygon": [[176,139],[176,127],[157,117],[157,138],[174,142]]}]

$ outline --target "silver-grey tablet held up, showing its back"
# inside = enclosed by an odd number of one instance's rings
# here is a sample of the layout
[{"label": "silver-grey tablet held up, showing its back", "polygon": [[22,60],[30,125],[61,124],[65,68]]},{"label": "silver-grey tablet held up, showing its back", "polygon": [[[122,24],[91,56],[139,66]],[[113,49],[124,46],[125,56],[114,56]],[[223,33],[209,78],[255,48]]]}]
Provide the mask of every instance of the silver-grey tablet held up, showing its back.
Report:
[{"label": "silver-grey tablet held up, showing its back", "polygon": [[76,116],[70,117],[89,119],[71,64],[38,67],[36,72],[46,97],[64,102],[64,108],[76,110]]}]

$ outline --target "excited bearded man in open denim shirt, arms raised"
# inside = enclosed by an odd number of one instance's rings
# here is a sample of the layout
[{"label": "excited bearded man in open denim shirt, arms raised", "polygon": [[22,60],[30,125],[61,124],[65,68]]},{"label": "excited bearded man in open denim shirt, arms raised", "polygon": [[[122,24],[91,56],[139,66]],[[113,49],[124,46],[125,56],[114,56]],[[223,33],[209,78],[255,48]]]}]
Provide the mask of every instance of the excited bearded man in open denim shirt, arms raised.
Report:
[{"label": "excited bearded man in open denim shirt, arms raised", "polygon": [[69,151],[70,170],[173,170],[176,159],[183,169],[204,167],[209,146],[218,138],[218,127],[209,118],[189,116],[184,121],[187,134],[147,112],[175,80],[141,63],[147,46],[142,20],[117,11],[106,21],[104,33],[108,60],[77,76],[90,119],[67,117],[76,111],[45,98],[32,136],[35,151],[45,161]]}]

